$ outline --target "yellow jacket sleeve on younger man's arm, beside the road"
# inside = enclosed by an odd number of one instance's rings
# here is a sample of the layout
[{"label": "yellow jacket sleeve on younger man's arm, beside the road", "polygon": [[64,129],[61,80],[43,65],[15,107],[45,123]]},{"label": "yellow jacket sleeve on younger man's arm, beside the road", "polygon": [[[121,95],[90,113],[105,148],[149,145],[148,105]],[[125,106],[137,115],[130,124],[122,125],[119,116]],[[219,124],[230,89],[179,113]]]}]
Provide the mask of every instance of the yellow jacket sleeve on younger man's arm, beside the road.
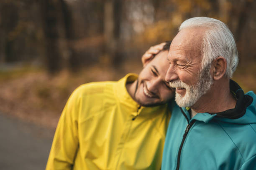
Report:
[{"label": "yellow jacket sleeve on younger man's arm, beside the road", "polygon": [[79,92],[73,92],[59,119],[46,170],[71,170],[77,153]]}]

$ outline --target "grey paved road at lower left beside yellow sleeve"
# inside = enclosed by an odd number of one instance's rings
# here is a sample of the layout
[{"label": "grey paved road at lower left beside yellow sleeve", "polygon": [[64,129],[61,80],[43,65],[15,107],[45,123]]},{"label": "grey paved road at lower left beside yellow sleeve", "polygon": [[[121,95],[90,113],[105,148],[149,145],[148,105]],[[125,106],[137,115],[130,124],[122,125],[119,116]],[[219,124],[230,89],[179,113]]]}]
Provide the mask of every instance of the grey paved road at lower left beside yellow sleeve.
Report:
[{"label": "grey paved road at lower left beside yellow sleeve", "polygon": [[44,170],[54,130],[0,113],[0,170]]}]

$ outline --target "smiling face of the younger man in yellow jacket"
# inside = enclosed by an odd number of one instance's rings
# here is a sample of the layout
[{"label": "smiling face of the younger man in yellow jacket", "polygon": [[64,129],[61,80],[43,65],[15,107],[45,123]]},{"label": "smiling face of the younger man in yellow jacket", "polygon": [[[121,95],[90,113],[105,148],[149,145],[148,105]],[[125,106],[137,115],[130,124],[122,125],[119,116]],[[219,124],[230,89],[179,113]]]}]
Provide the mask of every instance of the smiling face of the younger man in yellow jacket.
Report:
[{"label": "smiling face of the younger man in yellow jacket", "polygon": [[174,97],[174,89],[165,81],[167,54],[168,50],[159,52],[139,74],[133,99],[140,105],[160,105]]}]

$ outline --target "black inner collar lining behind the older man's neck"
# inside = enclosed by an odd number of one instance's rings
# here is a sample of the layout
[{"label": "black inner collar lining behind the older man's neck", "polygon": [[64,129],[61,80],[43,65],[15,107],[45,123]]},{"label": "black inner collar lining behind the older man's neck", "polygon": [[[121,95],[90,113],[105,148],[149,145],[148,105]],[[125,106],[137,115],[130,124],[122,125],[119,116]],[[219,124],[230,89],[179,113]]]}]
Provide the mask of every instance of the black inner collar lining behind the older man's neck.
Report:
[{"label": "black inner collar lining behind the older man's neck", "polygon": [[238,119],[246,113],[246,107],[251,105],[253,98],[245,95],[242,88],[233,80],[230,80],[230,91],[234,92],[237,98],[236,107],[233,109],[225,110],[224,112],[209,113],[217,117],[225,117],[229,119]]}]

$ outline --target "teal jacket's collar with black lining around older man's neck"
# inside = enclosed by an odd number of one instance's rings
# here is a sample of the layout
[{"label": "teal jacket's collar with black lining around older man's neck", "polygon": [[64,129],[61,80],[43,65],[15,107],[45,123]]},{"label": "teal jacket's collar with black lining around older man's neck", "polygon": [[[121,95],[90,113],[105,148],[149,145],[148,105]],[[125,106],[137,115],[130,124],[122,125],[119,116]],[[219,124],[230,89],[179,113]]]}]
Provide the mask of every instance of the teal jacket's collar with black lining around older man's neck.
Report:
[{"label": "teal jacket's collar with black lining around older man's neck", "polygon": [[[207,123],[214,117],[223,117],[228,119],[238,119],[239,117],[242,117],[246,113],[246,108],[251,105],[253,98],[249,95],[245,95],[242,88],[233,80],[230,80],[230,91],[237,99],[235,108],[225,110],[223,112],[200,113],[195,115],[191,120],[195,119]],[[181,110],[184,112],[185,116],[190,117],[189,107],[182,107]]]}]

